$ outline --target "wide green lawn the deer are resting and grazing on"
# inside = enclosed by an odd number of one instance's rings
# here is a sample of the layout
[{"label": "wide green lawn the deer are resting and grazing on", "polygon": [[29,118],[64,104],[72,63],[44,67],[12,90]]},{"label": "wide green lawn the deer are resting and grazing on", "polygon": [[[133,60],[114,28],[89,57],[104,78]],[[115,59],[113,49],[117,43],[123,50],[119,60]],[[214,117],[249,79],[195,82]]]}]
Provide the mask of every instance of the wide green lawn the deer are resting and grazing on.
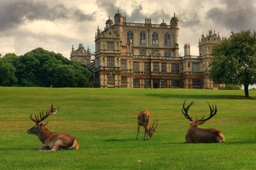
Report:
[{"label": "wide green lawn the deer are resting and grazing on", "polygon": [[[242,90],[0,87],[0,169],[256,169],[256,92],[243,96]],[[206,102],[217,104],[217,115],[202,127],[223,131],[225,143],[184,143],[186,98],[195,101],[189,110],[195,118],[209,114]],[[47,127],[76,136],[79,150],[35,150],[42,144],[26,133],[35,124],[29,115],[51,103],[60,111]],[[144,109],[159,126],[149,141],[141,127],[136,141]]]}]

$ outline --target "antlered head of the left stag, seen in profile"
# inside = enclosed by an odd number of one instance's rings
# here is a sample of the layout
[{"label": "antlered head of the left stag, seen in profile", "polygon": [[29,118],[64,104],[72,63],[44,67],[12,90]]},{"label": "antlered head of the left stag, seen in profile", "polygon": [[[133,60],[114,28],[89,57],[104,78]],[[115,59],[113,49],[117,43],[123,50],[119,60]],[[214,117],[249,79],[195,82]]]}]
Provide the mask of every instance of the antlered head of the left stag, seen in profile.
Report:
[{"label": "antlered head of the left stag, seen in profile", "polygon": [[44,126],[47,125],[47,123],[44,123],[42,121],[45,120],[45,118],[56,114],[59,109],[60,109],[60,107],[54,108],[53,104],[51,104],[51,106],[49,106],[49,109],[47,111],[45,111],[45,113],[43,110],[38,115],[34,114],[34,117],[32,117],[32,115],[33,115],[33,113],[32,113],[30,115],[30,118],[36,124],[33,127],[31,127],[30,129],[28,129],[28,131],[27,131],[28,134],[38,134],[38,132],[41,132],[42,129],[44,129]]}]

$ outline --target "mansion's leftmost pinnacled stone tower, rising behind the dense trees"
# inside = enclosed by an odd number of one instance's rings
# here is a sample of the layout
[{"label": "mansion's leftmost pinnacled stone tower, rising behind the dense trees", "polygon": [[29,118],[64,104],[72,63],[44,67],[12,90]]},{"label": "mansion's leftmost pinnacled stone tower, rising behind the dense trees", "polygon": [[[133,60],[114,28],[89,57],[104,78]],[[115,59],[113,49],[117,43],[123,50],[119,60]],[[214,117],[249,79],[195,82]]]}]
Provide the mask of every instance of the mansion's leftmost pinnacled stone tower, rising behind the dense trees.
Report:
[{"label": "mansion's leftmost pinnacled stone tower, rising behind the dense trees", "polygon": [[87,65],[90,64],[91,57],[92,55],[89,47],[86,50],[84,49],[83,44],[80,43],[77,50],[75,50],[74,46],[72,46],[72,51],[70,52],[70,60],[81,62],[82,64]]}]

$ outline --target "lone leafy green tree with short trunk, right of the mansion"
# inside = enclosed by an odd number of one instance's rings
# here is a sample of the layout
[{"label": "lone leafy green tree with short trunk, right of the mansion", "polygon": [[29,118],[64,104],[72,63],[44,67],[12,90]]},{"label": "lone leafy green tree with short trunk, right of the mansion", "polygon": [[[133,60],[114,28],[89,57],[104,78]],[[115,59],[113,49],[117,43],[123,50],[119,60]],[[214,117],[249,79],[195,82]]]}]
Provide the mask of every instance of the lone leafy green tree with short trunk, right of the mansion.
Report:
[{"label": "lone leafy green tree with short trunk, right of the mansion", "polygon": [[244,94],[249,97],[248,86],[256,83],[256,32],[232,32],[214,46],[212,56],[211,79],[216,83],[244,85]]}]

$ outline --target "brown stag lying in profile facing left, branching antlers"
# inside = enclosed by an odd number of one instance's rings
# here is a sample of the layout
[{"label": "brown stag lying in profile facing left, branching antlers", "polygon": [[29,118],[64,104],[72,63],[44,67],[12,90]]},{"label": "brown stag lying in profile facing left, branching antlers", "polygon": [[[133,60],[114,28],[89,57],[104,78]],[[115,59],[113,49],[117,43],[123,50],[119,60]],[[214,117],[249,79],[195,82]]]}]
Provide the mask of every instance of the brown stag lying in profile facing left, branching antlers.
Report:
[{"label": "brown stag lying in profile facing left, branching antlers", "polygon": [[43,146],[38,148],[39,151],[42,150],[61,150],[61,149],[67,149],[67,150],[78,150],[79,143],[77,142],[77,139],[71,136],[70,134],[61,133],[61,132],[51,132],[48,129],[46,129],[45,125],[47,123],[42,123],[45,118],[54,115],[57,113],[59,108],[53,108],[53,105],[49,107],[49,110],[45,112],[40,112],[39,115],[35,115],[33,118],[31,114],[30,118],[33,122],[36,123],[35,126],[31,127],[31,129],[28,129],[28,134],[35,134],[38,136],[40,141],[43,143]]}]

